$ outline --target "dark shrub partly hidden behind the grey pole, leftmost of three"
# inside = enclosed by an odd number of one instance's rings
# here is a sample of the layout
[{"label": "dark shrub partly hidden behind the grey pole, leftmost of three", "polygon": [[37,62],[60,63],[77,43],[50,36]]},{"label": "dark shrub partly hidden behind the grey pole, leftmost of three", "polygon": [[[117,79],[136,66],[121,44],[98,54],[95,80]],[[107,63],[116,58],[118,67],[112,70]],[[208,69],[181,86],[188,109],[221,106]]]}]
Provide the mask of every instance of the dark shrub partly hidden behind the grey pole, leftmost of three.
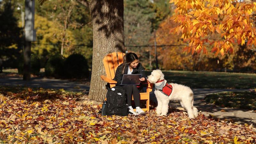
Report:
[{"label": "dark shrub partly hidden behind the grey pole, leftmost of three", "polygon": [[[23,74],[24,58],[20,57],[18,64],[18,73]],[[30,71],[31,74],[38,75],[40,72],[40,59],[36,55],[31,55],[30,58]]]}]

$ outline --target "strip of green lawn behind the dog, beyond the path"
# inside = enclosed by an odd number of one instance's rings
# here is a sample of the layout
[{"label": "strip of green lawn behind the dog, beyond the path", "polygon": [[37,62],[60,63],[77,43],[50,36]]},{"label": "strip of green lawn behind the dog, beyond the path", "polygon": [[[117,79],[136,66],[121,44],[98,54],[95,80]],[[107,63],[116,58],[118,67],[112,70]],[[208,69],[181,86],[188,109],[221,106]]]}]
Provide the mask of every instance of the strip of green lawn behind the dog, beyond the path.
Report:
[{"label": "strip of green lawn behind the dog, beyond the path", "polygon": [[[146,71],[150,75],[151,71]],[[256,74],[206,71],[163,71],[168,83],[177,83],[190,88],[254,89]]]}]

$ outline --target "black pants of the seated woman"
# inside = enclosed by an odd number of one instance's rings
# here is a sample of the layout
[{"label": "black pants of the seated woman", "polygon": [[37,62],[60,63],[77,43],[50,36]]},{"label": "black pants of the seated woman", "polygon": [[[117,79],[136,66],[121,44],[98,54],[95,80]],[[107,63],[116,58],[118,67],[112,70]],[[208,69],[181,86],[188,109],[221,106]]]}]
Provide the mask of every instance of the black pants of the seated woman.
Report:
[{"label": "black pants of the seated woman", "polygon": [[136,85],[121,85],[127,94],[127,104],[132,106],[132,95],[136,107],[140,107],[140,92]]}]

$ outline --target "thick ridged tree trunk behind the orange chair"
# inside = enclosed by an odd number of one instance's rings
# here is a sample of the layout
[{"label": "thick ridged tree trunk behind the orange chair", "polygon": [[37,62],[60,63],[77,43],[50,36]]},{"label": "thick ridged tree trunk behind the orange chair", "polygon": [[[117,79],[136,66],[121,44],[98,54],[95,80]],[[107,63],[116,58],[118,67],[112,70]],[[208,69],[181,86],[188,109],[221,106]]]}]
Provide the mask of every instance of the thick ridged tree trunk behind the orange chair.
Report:
[{"label": "thick ridged tree trunk behind the orange chair", "polygon": [[101,101],[106,96],[106,75],[102,59],[111,52],[124,52],[124,1],[92,0],[89,5],[93,23],[92,78],[89,97]]}]

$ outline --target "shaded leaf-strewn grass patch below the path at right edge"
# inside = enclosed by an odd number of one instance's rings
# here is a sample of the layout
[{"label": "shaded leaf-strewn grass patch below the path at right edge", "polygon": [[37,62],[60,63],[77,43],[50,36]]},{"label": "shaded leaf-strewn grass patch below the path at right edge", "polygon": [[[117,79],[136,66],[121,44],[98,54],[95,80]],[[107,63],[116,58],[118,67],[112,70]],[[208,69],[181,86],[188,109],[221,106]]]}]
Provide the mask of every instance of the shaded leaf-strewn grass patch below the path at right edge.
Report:
[{"label": "shaded leaf-strewn grass patch below the path at right edge", "polygon": [[206,95],[206,102],[222,107],[256,109],[256,92],[221,92]]}]

